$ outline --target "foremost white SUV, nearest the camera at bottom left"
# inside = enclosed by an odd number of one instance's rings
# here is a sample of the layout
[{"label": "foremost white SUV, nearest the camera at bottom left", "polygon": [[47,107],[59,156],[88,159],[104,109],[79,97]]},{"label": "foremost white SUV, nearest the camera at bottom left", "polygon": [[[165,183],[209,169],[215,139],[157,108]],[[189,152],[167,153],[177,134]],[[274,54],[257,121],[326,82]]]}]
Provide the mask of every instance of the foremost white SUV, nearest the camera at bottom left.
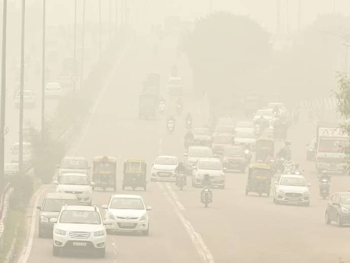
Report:
[{"label": "foremost white SUV, nearest the camera at bottom left", "polygon": [[62,207],[58,218],[51,218],[53,228],[52,254],[64,251],[95,252],[104,257],[106,252],[106,227],[99,209],[95,206]]}]

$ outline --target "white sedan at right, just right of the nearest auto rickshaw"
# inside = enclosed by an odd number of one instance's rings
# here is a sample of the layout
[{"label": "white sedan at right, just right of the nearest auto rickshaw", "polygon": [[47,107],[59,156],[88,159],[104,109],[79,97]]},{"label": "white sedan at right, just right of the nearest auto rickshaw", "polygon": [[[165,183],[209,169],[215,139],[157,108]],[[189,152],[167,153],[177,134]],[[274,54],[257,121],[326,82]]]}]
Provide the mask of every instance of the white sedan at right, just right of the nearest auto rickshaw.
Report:
[{"label": "white sedan at right, just right of the nearest auto rickshaw", "polygon": [[275,182],[273,189],[273,202],[275,204],[293,203],[304,206],[310,205],[309,183],[304,176],[296,174],[283,174]]}]

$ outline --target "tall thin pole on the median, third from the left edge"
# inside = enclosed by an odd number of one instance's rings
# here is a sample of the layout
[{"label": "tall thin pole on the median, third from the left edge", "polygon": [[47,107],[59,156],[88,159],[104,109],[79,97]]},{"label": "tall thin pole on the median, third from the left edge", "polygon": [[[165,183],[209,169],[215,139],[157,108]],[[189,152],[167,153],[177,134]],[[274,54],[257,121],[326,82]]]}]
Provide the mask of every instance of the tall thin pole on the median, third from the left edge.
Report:
[{"label": "tall thin pole on the median, third from the left edge", "polygon": [[43,0],[43,55],[42,55],[42,80],[41,80],[41,134],[45,138],[45,45],[46,45],[46,0]]}]

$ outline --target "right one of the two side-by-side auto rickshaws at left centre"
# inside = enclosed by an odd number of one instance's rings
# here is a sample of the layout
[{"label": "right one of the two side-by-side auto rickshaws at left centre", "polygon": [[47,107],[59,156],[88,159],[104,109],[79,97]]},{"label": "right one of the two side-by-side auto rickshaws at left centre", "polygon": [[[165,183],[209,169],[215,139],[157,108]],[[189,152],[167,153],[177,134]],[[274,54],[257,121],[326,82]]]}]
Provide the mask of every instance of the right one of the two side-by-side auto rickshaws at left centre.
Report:
[{"label": "right one of the two side-by-side auto rickshaws at left centre", "polygon": [[144,191],[146,191],[146,171],[147,164],[144,160],[126,160],[124,162],[122,189],[131,187],[135,190],[137,187],[143,187]]}]

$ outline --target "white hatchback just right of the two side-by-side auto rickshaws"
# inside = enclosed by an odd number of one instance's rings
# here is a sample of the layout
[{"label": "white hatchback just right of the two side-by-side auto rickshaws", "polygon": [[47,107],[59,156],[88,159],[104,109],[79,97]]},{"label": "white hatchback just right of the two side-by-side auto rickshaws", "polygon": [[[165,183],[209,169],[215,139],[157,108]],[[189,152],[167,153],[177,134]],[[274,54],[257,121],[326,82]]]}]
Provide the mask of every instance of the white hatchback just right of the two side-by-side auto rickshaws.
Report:
[{"label": "white hatchback just right of the two side-by-side auto rickshaws", "polygon": [[152,163],[151,180],[152,181],[175,181],[175,168],[178,166],[179,160],[175,156],[159,156]]}]

